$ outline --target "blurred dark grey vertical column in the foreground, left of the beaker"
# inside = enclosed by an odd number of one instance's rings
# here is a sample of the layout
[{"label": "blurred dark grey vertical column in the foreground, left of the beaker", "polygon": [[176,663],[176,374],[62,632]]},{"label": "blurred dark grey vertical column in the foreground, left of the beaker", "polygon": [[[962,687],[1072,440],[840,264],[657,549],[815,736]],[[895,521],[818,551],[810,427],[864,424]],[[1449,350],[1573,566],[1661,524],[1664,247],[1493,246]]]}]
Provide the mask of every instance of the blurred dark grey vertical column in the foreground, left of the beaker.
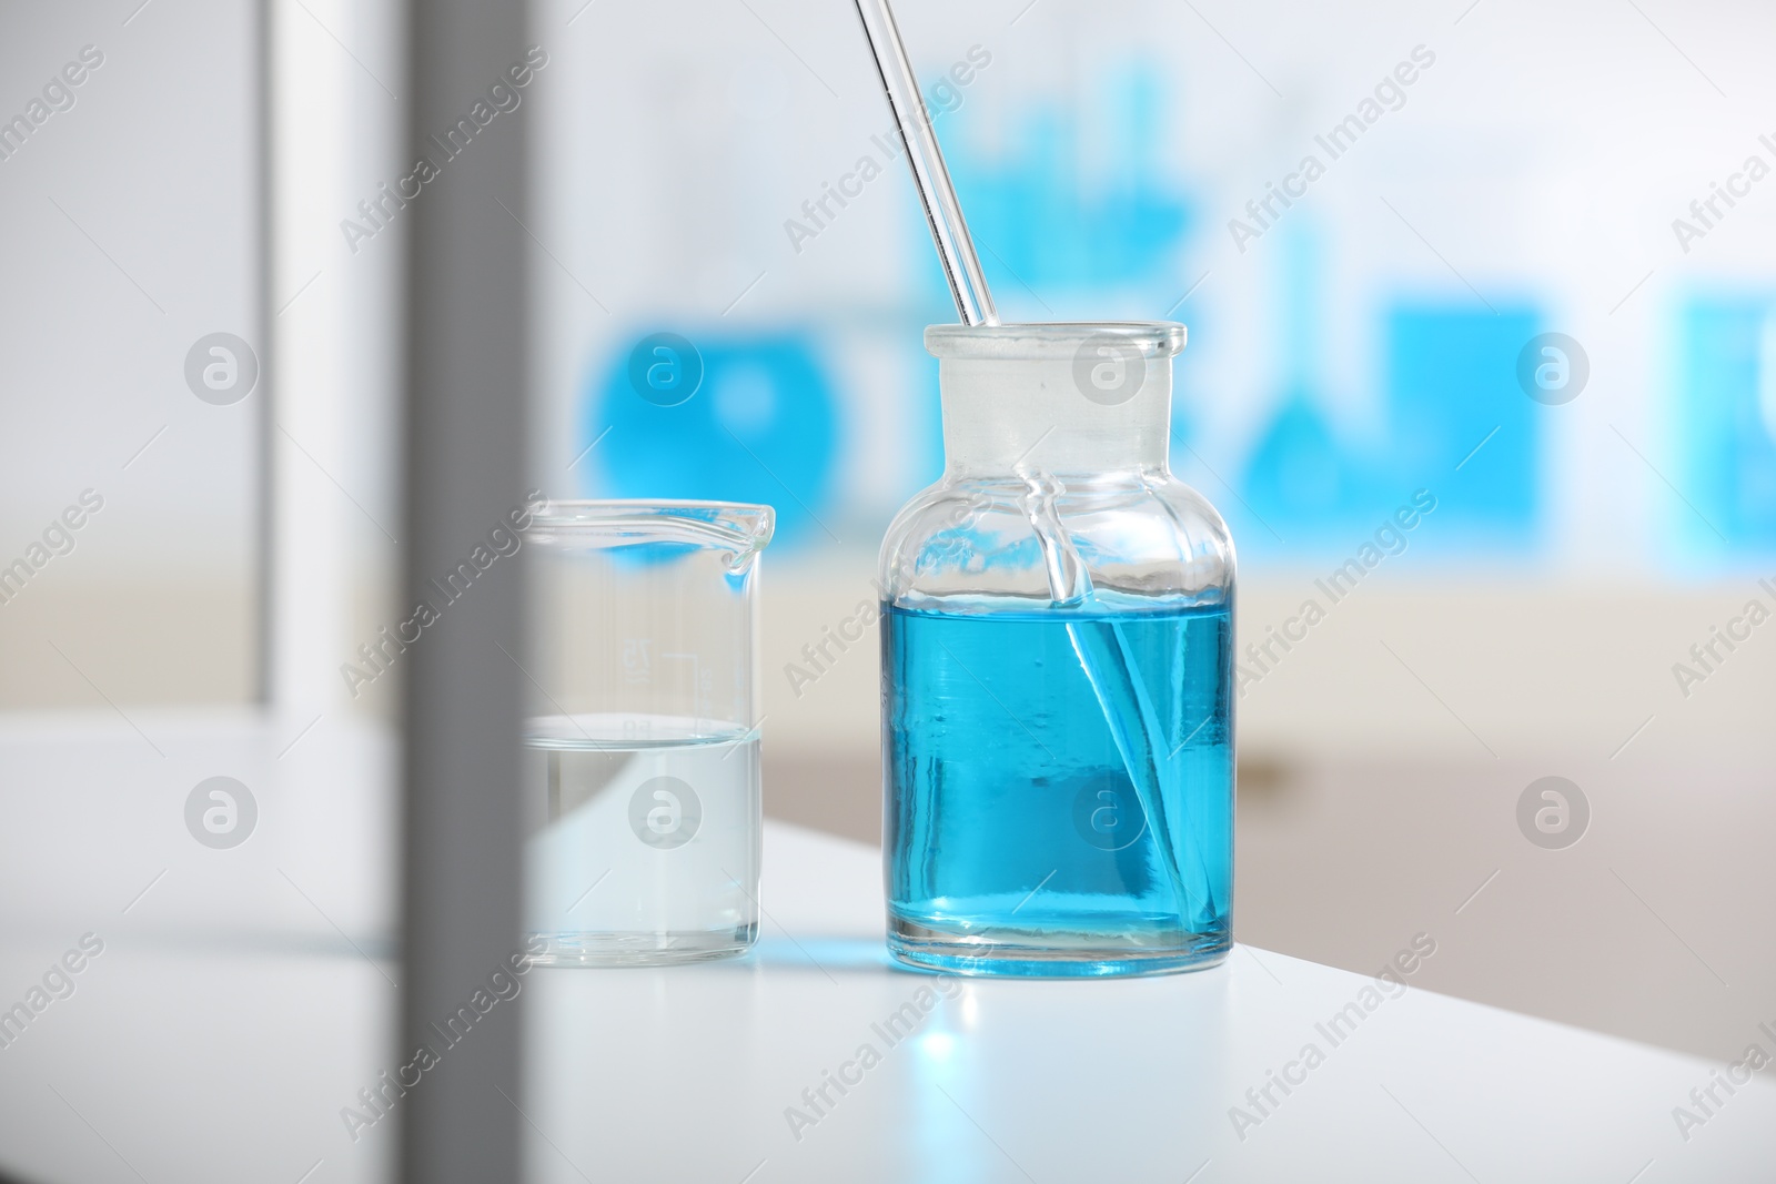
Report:
[{"label": "blurred dark grey vertical column in the foreground, left of the beaker", "polygon": [[522,1122],[515,1008],[503,1003],[467,1031],[446,1019],[519,948],[522,673],[506,653],[524,653],[522,572],[501,559],[460,591],[446,575],[524,501],[524,236],[513,217],[526,208],[527,108],[476,117],[524,62],[526,5],[410,0],[408,21],[407,144],[437,176],[400,213],[410,252],[403,579],[407,612],[428,602],[439,620],[405,655],[401,1054],[430,1046],[440,1063],[401,1101],[401,1179],[508,1184]]}]

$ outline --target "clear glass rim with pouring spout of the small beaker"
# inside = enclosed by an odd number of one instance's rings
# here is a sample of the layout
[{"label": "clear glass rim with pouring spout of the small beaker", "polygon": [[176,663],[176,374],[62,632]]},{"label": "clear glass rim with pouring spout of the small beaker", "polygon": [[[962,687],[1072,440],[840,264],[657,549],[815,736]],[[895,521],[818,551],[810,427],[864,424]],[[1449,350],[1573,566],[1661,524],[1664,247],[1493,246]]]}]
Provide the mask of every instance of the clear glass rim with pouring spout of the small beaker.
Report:
[{"label": "clear glass rim with pouring spout of the small beaker", "polygon": [[531,513],[531,531],[593,547],[693,543],[755,556],[776,531],[776,509],[755,502],[675,497],[551,499]]}]

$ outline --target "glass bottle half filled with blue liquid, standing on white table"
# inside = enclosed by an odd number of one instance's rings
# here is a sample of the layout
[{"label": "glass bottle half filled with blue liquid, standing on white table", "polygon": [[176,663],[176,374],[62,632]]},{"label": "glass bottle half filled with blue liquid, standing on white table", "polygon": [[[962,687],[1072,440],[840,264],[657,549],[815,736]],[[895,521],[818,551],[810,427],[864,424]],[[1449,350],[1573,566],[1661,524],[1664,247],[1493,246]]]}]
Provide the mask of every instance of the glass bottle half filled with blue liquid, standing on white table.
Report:
[{"label": "glass bottle half filled with blue liquid, standing on white table", "polygon": [[881,550],[888,946],[1138,975],[1231,943],[1233,540],[1172,323],[934,325],[943,478]]}]

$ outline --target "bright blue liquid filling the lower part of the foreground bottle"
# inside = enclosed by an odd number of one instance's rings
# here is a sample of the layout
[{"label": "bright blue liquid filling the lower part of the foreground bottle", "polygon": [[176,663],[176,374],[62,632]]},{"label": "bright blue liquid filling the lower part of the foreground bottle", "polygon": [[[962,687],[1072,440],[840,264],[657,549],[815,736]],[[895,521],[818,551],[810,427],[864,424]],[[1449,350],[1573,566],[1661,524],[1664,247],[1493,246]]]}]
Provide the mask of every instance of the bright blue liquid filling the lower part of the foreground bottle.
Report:
[{"label": "bright blue liquid filling the lower part of the foreground bottle", "polygon": [[884,609],[888,944],[1135,975],[1231,943],[1225,607]]}]

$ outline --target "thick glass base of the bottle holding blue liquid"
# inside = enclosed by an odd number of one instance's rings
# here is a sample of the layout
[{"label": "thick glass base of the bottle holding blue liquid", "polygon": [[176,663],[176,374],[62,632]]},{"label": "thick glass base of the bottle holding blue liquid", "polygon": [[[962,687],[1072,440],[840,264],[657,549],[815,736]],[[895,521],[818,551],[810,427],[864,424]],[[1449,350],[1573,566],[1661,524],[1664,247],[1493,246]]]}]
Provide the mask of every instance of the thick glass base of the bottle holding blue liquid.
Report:
[{"label": "thick glass base of the bottle holding blue liquid", "polygon": [[1183,944],[1142,946],[1112,934],[948,934],[888,918],[888,953],[897,962],[979,978],[1131,978],[1181,975],[1218,966],[1233,937],[1190,934]]}]

